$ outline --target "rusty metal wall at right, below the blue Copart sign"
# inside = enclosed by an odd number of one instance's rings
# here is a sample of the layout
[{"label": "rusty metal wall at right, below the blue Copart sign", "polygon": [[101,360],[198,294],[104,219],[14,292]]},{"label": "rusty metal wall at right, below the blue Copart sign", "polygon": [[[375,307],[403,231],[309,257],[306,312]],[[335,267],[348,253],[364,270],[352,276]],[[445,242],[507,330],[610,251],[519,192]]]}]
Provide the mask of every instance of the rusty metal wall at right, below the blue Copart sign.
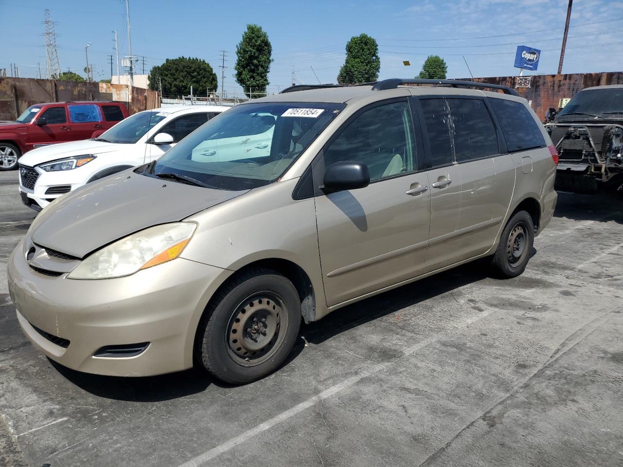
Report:
[{"label": "rusty metal wall at right, below the blue Copart sign", "polygon": [[[461,78],[471,81],[472,78]],[[515,88],[516,76],[474,78],[473,81],[501,84]],[[516,88],[521,97],[531,101],[532,108],[542,121],[548,108],[558,108],[561,98],[571,98],[584,88],[623,84],[623,72],[569,73],[567,75],[534,75],[530,77],[530,88]]]}]

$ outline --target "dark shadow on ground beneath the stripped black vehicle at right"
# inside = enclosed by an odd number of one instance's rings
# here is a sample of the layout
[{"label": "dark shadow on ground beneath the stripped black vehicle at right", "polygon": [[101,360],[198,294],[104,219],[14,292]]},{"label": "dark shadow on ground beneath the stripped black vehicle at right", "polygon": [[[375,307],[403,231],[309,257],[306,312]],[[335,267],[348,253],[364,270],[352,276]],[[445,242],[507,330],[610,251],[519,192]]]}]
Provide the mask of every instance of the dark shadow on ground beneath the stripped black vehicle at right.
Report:
[{"label": "dark shadow on ground beneath the stripped black vehicle at right", "polygon": [[585,195],[558,192],[554,217],[571,220],[614,220],[623,224],[623,196],[621,194]]}]

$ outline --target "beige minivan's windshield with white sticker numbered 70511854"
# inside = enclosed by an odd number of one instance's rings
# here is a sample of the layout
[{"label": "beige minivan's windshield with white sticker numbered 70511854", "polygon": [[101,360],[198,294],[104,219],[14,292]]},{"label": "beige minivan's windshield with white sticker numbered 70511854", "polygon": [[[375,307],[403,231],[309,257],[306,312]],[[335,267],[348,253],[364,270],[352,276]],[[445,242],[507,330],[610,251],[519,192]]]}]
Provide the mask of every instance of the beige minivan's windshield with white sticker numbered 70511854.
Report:
[{"label": "beige minivan's windshield with white sticker numbered 70511854", "polygon": [[145,175],[244,190],[276,181],[345,107],[339,103],[247,103],[209,120]]}]

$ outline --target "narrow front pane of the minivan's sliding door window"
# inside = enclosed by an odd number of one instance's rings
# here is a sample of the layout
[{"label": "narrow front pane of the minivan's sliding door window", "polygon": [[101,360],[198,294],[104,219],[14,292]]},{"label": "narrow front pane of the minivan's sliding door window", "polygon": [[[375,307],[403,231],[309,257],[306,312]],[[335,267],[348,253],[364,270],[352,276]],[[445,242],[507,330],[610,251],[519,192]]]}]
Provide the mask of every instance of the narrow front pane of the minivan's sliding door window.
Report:
[{"label": "narrow front pane of the minivan's sliding door window", "polygon": [[424,126],[429,137],[430,152],[426,154],[426,168],[447,166],[454,162],[452,154],[452,120],[450,106],[445,99],[422,99]]}]

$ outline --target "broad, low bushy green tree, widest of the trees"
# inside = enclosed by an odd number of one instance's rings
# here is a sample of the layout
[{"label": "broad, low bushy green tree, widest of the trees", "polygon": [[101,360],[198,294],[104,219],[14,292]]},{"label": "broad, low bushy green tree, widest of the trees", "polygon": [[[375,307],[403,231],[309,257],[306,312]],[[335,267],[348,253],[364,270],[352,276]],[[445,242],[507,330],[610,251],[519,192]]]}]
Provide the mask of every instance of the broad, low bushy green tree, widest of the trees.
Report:
[{"label": "broad, low bushy green tree, widest of the trees", "polygon": [[169,96],[189,95],[191,86],[195,95],[202,95],[207,90],[216,90],[218,85],[210,64],[190,57],[166,59],[162,65],[151,68],[148,79],[150,89],[159,90],[162,82],[162,93]]}]

